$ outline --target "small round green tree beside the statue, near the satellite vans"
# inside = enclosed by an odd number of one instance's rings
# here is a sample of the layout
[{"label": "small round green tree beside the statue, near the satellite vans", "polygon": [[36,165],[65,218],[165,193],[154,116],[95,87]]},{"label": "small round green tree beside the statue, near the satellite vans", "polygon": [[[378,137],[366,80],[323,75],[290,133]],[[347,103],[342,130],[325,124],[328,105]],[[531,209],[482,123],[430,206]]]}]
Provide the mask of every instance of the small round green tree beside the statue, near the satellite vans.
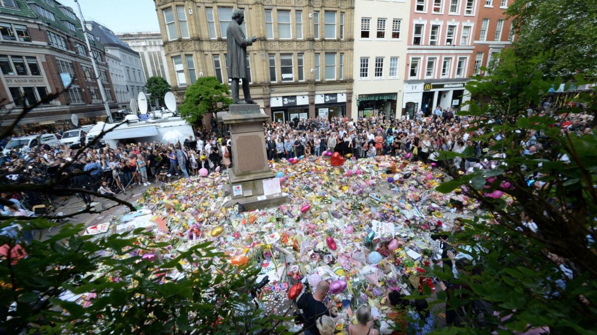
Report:
[{"label": "small round green tree beside the statue, near the satellite vans", "polygon": [[232,99],[228,86],[216,77],[201,77],[184,92],[184,102],[179,107],[180,116],[189,123],[201,122],[205,113],[226,110]]}]

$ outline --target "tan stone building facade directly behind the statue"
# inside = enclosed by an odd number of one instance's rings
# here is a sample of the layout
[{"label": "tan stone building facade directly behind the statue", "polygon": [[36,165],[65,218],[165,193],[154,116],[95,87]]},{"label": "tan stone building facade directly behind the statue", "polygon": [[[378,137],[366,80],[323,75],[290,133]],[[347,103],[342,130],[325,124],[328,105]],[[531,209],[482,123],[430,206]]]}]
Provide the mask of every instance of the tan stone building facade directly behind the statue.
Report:
[{"label": "tan stone building facade directly behind the statue", "polygon": [[245,11],[251,97],[270,117],[352,117],[352,0],[156,0],[170,78],[179,100],[201,76],[227,83],[226,27]]}]

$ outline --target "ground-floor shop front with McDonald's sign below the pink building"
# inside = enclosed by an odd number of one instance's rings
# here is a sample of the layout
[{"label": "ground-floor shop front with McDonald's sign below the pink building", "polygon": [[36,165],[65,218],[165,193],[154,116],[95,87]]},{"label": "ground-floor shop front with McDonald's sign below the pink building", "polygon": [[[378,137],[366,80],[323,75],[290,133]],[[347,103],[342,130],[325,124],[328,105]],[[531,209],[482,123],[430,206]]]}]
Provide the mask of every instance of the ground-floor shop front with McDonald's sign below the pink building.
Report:
[{"label": "ground-floor shop front with McDonald's sign below the pink building", "polygon": [[429,116],[439,106],[442,110],[459,109],[467,100],[466,82],[405,82],[403,110],[413,118],[420,109]]}]

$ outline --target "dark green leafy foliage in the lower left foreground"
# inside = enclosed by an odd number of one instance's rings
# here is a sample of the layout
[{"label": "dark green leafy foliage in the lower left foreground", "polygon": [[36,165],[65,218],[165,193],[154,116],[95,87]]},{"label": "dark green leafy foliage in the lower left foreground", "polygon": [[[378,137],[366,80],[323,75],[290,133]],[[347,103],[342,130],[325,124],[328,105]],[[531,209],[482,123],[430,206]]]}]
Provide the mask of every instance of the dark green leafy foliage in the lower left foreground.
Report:
[{"label": "dark green leafy foliage in the lower left foreground", "polygon": [[[53,225],[42,219],[21,224]],[[282,333],[279,319],[265,317],[247,296],[257,270],[230,266],[210,242],[162,259],[171,243],[144,229],[101,238],[80,235],[82,229],[64,224],[58,234],[30,244],[0,236],[0,246],[10,246],[13,255],[0,259],[6,320],[0,333]],[[73,302],[78,294],[84,296]]]}]

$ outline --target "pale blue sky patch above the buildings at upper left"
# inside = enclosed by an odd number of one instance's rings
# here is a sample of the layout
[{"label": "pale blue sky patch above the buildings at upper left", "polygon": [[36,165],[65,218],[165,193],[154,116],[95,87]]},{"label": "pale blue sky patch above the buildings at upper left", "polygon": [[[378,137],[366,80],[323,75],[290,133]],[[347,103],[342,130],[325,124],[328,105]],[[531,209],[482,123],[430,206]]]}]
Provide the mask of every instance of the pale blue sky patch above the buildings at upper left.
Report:
[{"label": "pale blue sky patch above the buildings at upper left", "polygon": [[[58,0],[79,10],[74,0]],[[115,33],[159,32],[155,4],[151,0],[79,0],[85,19],[93,19]]]}]

